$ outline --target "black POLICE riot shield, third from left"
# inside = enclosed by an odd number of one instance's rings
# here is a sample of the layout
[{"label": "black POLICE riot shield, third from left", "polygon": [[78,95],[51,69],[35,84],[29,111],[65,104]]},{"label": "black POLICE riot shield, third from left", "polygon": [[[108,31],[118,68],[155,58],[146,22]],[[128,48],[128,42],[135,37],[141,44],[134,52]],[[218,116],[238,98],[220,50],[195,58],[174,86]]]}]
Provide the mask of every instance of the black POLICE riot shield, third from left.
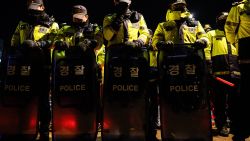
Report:
[{"label": "black POLICE riot shield, third from left", "polygon": [[102,113],[103,141],[145,141],[148,126],[145,49],[106,48]]}]

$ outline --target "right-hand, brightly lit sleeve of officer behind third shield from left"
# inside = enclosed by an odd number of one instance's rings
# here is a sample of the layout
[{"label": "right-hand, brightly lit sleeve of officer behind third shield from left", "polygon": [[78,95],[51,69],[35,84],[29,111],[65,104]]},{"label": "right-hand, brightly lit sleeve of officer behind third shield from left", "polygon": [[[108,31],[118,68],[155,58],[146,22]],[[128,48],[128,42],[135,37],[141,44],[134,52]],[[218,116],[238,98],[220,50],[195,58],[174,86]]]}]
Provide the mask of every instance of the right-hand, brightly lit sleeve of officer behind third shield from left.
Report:
[{"label": "right-hand, brightly lit sleeve of officer behind third shield from left", "polygon": [[148,42],[149,40],[149,37],[150,37],[150,34],[149,34],[149,30],[148,30],[148,27],[147,27],[147,24],[146,24],[146,21],[143,17],[143,15],[140,16],[140,21],[139,21],[139,24],[140,24],[140,28],[139,28],[139,37],[138,39],[142,40],[145,43]]}]

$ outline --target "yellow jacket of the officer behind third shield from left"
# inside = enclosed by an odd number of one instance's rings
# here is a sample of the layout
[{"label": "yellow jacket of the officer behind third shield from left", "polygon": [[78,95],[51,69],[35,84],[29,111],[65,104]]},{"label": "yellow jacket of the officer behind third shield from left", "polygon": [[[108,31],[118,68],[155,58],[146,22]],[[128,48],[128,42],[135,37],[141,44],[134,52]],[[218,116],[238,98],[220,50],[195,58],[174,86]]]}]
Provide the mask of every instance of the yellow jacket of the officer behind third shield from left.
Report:
[{"label": "yellow jacket of the officer behind third shield from left", "polygon": [[[135,12],[135,11],[134,11]],[[125,42],[124,33],[128,33],[127,41],[133,41],[140,39],[146,44],[149,38],[149,31],[147,28],[147,24],[142,14],[137,13],[139,15],[139,20],[136,22],[131,21],[130,18],[127,18],[123,21],[121,27],[118,31],[115,31],[111,24],[113,20],[116,18],[117,14],[110,14],[105,16],[103,20],[103,34],[104,38],[108,41],[107,47],[115,44],[121,44]],[[126,28],[127,29],[126,29]]]}]

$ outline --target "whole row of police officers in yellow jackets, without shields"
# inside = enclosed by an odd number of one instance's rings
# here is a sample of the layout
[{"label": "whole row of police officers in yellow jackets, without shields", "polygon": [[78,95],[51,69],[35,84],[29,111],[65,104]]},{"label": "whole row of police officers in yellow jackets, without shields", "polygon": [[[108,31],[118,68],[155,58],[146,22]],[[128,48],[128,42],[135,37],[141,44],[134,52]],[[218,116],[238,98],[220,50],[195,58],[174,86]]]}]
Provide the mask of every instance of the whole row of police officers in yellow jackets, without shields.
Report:
[{"label": "whole row of police officers in yellow jackets, without shields", "polygon": [[[230,87],[213,79],[209,81],[218,133],[228,136],[229,118],[233,140],[244,140],[250,131],[247,116],[250,112],[247,105],[250,100],[250,1],[234,3],[229,12],[218,13],[216,28],[208,32],[191,16],[185,0],[174,0],[168,5],[166,21],[159,23],[154,32],[147,27],[143,14],[131,10],[130,5],[131,0],[114,0],[114,12],[104,17],[102,26],[90,23],[86,7],[75,5],[71,23],[59,27],[45,12],[43,1],[34,0],[13,33],[11,48],[93,48],[97,64],[103,67],[106,47],[117,44],[132,48],[148,46],[154,50],[150,54],[150,66],[156,68],[159,48],[194,43],[204,48],[211,76],[236,84]],[[57,53],[57,57],[64,56],[65,52]]]}]

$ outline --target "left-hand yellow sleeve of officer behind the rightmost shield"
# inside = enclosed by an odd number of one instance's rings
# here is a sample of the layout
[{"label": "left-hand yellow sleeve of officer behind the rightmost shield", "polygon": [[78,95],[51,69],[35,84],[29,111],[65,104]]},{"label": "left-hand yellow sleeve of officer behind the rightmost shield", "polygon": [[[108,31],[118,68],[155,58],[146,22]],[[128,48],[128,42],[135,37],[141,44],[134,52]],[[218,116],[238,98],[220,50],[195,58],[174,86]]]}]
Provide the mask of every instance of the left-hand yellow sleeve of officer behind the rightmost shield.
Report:
[{"label": "left-hand yellow sleeve of officer behind the rightmost shield", "polygon": [[153,38],[152,38],[152,47],[154,49],[157,49],[156,44],[159,41],[164,41],[164,30],[163,30],[163,25],[162,23],[159,23],[157,25],[157,28],[155,29]]}]

